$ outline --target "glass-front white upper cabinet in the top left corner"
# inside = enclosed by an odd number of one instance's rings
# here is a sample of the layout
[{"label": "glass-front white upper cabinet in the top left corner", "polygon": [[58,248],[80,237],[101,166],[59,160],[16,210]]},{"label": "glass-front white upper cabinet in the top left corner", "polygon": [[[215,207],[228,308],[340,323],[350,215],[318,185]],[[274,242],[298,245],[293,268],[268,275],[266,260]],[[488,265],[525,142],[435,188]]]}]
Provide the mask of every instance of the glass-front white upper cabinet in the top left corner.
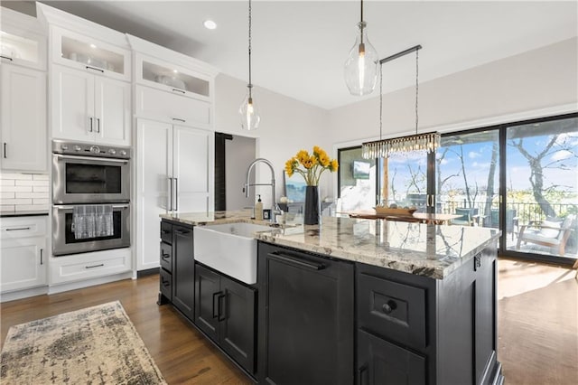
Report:
[{"label": "glass-front white upper cabinet in the top left corner", "polygon": [[4,7],[0,18],[2,63],[46,70],[46,34],[36,18]]}]

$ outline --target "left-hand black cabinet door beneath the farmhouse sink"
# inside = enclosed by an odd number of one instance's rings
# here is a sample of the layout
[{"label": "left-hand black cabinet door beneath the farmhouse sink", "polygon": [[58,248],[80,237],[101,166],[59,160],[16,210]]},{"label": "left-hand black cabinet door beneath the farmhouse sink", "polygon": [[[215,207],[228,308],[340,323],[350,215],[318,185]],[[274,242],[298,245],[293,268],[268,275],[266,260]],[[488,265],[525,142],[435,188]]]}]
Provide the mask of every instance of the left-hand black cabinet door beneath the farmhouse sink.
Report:
[{"label": "left-hand black cabinet door beneath the farmhouse sink", "polygon": [[219,341],[219,305],[224,297],[219,287],[219,274],[197,264],[195,267],[195,324],[214,341]]}]

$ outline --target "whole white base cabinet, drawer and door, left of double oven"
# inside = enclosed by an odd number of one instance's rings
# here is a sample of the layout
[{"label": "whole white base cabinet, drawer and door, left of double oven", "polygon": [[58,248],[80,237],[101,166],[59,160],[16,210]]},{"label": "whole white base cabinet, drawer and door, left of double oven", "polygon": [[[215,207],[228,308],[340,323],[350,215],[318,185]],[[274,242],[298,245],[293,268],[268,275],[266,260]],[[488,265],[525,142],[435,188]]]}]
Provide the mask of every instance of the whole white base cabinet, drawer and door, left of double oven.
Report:
[{"label": "whole white base cabinet, drawer and door, left of double oven", "polygon": [[46,285],[47,218],[3,218],[1,293]]}]

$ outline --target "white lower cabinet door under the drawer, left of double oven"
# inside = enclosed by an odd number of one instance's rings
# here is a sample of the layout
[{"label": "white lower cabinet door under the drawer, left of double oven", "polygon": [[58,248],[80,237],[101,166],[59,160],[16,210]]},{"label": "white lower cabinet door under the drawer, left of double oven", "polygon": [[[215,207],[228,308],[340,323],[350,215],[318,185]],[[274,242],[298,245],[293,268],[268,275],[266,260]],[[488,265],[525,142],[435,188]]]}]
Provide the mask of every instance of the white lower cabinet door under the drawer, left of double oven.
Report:
[{"label": "white lower cabinet door under the drawer, left of double oven", "polygon": [[46,238],[3,239],[0,291],[46,285]]}]

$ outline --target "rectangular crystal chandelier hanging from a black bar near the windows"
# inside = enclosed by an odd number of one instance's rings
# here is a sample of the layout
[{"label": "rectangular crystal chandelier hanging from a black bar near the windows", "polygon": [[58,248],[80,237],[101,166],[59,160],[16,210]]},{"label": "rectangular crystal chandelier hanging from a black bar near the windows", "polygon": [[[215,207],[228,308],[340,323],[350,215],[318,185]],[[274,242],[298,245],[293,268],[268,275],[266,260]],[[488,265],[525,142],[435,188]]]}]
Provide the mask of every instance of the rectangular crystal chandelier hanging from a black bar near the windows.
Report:
[{"label": "rectangular crystal chandelier hanging from a black bar near the windows", "polygon": [[[418,126],[418,95],[419,95],[419,50],[421,45],[409,48],[379,61],[379,140],[365,142],[361,145],[361,156],[364,159],[387,158],[393,153],[409,153],[413,151],[427,151],[431,153],[440,146],[441,136],[438,132],[417,133]],[[393,61],[407,53],[415,52],[415,135],[399,136],[391,139],[382,139],[383,117],[383,72],[382,66],[387,61]]]}]

